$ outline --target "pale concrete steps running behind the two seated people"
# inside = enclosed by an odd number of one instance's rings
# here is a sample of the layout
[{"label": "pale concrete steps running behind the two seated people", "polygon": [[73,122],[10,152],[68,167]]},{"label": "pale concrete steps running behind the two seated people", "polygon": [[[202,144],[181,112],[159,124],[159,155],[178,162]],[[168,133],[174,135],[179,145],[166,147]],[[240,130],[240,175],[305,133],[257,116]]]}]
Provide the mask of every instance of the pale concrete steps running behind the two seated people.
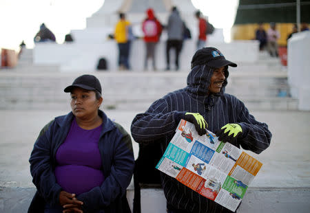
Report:
[{"label": "pale concrete steps running behind the two seated people", "polygon": [[[19,70],[19,69],[18,69]],[[145,111],[169,91],[185,87],[187,71],[90,72],[101,80],[105,109]],[[81,72],[0,72],[0,109],[70,109],[63,89]],[[297,109],[289,98],[285,71],[231,71],[227,93],[244,101],[249,109]],[[279,97],[281,96],[281,97]]]}]

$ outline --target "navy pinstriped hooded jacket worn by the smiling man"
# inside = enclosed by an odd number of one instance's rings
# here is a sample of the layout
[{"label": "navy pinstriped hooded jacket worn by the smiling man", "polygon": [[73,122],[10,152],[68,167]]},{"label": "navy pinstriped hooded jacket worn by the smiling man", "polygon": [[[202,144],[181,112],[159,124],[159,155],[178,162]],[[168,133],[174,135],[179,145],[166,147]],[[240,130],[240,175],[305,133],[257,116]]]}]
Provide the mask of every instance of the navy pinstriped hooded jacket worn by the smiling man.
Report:
[{"label": "navy pinstriped hooded jacket worn by the smiling man", "polygon": [[[193,67],[187,77],[187,87],[168,93],[156,100],[145,113],[140,113],[132,121],[132,137],[138,143],[158,142],[163,154],[174,136],[176,127],[186,112],[200,113],[209,124],[209,130],[217,131],[227,123],[237,123],[242,127],[242,135],[234,146],[261,153],[271,142],[271,133],[265,123],[256,121],[243,102],[225,93],[228,70],[220,93],[208,93],[213,69],[207,65]],[[176,179],[161,172],[161,182],[168,208],[188,212],[230,212],[187,188]]]}]

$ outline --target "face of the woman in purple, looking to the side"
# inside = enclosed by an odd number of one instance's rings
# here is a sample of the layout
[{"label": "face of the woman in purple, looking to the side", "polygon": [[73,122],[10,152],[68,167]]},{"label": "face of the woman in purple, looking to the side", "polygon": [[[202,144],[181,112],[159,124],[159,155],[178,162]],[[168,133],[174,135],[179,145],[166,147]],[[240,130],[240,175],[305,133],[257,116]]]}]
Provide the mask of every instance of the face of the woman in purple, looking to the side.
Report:
[{"label": "face of the woman in purple, looking to the side", "polygon": [[94,91],[76,87],[71,91],[71,109],[73,115],[80,119],[87,119],[97,115],[102,98],[96,99]]}]

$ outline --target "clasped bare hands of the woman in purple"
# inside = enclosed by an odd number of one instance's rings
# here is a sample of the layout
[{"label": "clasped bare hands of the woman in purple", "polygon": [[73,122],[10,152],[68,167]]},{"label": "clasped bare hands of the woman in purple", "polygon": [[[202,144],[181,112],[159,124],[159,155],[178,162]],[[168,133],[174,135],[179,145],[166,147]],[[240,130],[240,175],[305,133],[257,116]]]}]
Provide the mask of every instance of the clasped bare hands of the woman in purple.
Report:
[{"label": "clasped bare hands of the woman in purple", "polygon": [[83,205],[83,202],[76,199],[75,194],[61,191],[59,194],[59,203],[65,209],[63,212],[83,213],[81,210],[81,205]]}]

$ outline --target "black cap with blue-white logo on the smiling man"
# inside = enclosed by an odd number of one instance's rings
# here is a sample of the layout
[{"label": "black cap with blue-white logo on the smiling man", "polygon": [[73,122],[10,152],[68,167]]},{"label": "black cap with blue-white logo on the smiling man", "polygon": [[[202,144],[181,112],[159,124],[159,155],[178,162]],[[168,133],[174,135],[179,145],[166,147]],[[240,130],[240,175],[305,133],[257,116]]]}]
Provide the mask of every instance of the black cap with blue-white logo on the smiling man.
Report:
[{"label": "black cap with blue-white logo on the smiling man", "polygon": [[214,47],[203,47],[198,49],[192,58],[192,68],[196,65],[207,65],[220,68],[225,66],[237,67],[235,63],[226,60],[223,54]]}]

